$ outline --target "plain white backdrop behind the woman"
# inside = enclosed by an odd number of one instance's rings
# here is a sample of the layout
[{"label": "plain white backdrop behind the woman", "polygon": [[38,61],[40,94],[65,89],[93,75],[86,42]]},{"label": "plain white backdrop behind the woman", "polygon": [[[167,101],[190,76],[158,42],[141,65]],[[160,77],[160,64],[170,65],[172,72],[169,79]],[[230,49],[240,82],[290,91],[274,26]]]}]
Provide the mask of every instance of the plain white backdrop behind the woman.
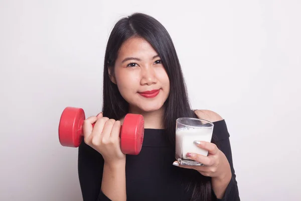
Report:
[{"label": "plain white backdrop behind the woman", "polygon": [[0,200],[82,200],[67,106],[102,106],[103,56],[122,17],[169,31],[191,105],[228,125],[241,200],[301,200],[301,1],[0,1]]}]

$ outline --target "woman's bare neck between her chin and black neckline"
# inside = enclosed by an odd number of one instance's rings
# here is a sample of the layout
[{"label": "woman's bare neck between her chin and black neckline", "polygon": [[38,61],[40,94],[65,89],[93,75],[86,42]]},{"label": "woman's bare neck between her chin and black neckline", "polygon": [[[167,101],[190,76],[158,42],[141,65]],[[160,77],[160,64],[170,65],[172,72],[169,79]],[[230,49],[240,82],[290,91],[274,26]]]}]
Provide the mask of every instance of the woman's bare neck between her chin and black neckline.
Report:
[{"label": "woman's bare neck between her chin and black neckline", "polygon": [[[129,113],[143,116],[145,129],[164,129],[164,108],[157,111],[145,112],[135,108],[129,108]],[[123,118],[120,120],[123,123]]]}]

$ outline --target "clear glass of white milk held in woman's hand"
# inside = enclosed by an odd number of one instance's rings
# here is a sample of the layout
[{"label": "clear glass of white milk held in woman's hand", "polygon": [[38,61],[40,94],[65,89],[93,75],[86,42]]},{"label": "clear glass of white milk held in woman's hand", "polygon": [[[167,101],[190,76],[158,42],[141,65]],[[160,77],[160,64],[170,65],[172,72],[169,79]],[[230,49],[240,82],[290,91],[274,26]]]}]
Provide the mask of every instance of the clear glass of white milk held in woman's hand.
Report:
[{"label": "clear glass of white milk held in woman's hand", "polygon": [[187,153],[197,153],[208,156],[208,151],[195,145],[194,141],[211,142],[213,123],[197,118],[179,118],[176,123],[176,160],[180,165],[198,165],[186,157]]}]

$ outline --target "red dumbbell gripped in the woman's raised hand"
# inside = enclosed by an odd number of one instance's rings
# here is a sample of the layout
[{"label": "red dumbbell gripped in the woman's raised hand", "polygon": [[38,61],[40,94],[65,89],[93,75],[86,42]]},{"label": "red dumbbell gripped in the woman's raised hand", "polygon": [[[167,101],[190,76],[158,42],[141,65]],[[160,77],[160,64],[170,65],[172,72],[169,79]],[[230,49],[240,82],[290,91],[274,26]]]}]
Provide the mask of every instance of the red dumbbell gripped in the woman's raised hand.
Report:
[{"label": "red dumbbell gripped in the woman's raised hand", "polygon": [[[59,123],[59,141],[62,146],[79,147],[83,140],[84,120],[83,109],[74,107],[64,109]],[[94,124],[92,124],[93,127]],[[138,114],[125,115],[119,136],[122,153],[139,154],[144,136],[143,116]]]}]

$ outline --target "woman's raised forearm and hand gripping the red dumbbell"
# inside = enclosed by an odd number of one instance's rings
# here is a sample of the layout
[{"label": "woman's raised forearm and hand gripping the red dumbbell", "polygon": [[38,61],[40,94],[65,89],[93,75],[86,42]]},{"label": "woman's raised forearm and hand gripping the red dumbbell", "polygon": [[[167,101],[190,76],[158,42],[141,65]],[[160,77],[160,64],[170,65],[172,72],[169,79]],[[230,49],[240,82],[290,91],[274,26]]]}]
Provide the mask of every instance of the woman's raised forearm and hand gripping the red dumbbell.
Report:
[{"label": "woman's raised forearm and hand gripping the red dumbbell", "polygon": [[[102,157],[99,157],[103,159],[103,166],[99,169],[102,179],[98,181],[101,182],[101,189],[97,200],[126,200],[125,154],[120,149],[120,126],[119,121],[103,118],[102,114],[89,117],[83,124],[85,144],[100,153]],[[90,166],[93,168],[93,165]]]}]

